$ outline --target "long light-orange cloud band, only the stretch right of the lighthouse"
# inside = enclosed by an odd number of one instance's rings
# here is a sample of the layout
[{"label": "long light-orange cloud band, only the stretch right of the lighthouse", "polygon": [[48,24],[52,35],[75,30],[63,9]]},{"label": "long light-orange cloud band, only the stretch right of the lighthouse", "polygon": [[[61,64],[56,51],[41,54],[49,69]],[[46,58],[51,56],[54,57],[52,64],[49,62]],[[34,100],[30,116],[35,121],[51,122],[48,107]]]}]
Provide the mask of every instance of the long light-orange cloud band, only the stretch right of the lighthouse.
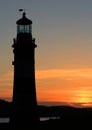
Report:
[{"label": "long light-orange cloud band, only the stretch right of the lighthouse", "polygon": [[37,79],[63,78],[71,79],[92,79],[92,69],[52,69],[37,70]]}]

